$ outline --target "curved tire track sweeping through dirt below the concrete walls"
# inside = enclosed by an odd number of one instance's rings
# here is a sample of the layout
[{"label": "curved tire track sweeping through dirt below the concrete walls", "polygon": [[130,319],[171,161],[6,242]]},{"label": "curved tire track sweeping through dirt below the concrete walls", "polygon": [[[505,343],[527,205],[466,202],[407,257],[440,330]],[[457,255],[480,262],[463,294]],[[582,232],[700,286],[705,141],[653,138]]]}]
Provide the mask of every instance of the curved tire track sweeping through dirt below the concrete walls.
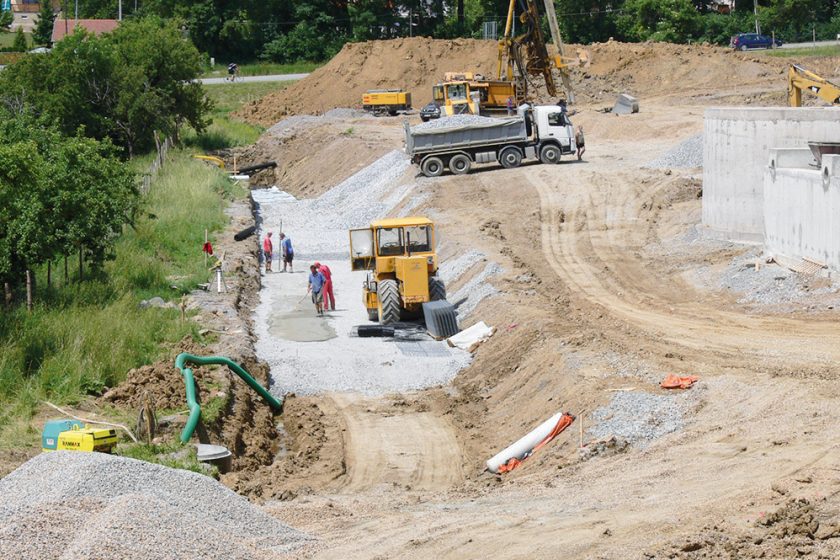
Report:
[{"label": "curved tire track sweeping through dirt below the concrete walls", "polygon": [[[652,338],[729,359],[813,363],[840,357],[836,323],[726,311],[692,299],[689,286],[649,272],[628,247],[630,231],[641,221],[632,209],[642,196],[628,177],[576,172],[573,181],[589,188],[562,192],[550,186],[546,173],[527,170],[523,181],[540,198],[546,260],[576,295]],[[644,196],[661,188],[647,185]]]}]

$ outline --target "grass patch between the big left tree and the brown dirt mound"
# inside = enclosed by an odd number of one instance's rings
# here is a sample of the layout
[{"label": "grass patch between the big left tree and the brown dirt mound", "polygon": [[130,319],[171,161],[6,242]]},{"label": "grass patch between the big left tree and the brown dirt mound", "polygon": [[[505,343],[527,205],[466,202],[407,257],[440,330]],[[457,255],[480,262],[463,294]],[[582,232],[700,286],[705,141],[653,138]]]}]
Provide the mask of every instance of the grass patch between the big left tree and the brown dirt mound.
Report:
[{"label": "grass patch between the big left tree and the brown dirt mound", "polygon": [[292,82],[238,82],[234,84],[205,85],[207,96],[213,100],[213,123],[203,134],[189,132],[184,141],[205,152],[247,146],[257,141],[265,130],[244,121],[232,119],[230,114],[246,103],[283,89]]}]

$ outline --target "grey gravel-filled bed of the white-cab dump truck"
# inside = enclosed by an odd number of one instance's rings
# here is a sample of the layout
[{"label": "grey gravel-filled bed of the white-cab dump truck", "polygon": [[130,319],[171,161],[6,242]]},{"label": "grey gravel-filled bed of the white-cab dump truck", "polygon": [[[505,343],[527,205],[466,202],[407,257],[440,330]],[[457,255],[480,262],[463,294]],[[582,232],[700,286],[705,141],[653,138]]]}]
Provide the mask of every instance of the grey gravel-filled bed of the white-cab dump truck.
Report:
[{"label": "grey gravel-filled bed of the white-cab dump truck", "polygon": [[[450,117],[457,121],[457,117]],[[445,126],[446,118],[436,121],[432,127],[422,125],[411,128],[405,123],[405,153],[414,156],[431,152],[459,150],[525,142],[528,133],[522,117],[486,118],[476,117],[469,123]],[[486,122],[483,122],[486,121]]]}]

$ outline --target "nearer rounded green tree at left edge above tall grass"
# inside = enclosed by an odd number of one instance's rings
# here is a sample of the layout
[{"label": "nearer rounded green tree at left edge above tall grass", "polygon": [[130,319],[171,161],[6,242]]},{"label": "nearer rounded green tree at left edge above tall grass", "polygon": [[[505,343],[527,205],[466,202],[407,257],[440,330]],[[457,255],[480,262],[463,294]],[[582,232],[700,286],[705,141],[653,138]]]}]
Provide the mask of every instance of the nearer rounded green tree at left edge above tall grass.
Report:
[{"label": "nearer rounded green tree at left edge above tall grass", "polygon": [[28,113],[0,120],[2,281],[20,284],[33,267],[77,252],[101,265],[137,201],[109,142],[63,136]]}]

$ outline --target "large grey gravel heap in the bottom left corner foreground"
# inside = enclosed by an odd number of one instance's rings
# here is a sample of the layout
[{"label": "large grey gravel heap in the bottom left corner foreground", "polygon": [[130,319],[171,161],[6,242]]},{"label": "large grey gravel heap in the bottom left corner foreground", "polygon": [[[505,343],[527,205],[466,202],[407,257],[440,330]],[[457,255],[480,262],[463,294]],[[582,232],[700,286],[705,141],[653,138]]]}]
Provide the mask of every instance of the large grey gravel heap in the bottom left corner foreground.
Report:
[{"label": "large grey gravel heap in the bottom left corner foreground", "polygon": [[102,453],[42,453],[0,480],[0,558],[279,558],[310,538],[215,480]]}]

